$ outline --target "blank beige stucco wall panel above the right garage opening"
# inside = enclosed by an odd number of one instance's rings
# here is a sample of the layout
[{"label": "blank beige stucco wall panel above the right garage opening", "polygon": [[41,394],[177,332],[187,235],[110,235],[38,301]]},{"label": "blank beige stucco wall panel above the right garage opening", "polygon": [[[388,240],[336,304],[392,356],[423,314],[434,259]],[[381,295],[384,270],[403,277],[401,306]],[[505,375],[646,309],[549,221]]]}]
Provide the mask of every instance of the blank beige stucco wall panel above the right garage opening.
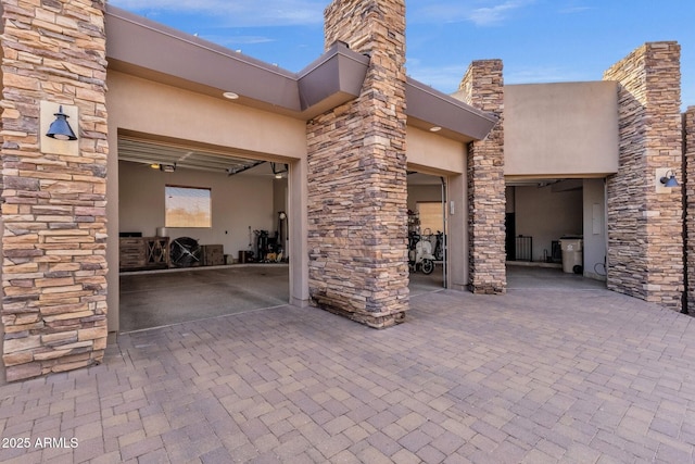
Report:
[{"label": "blank beige stucco wall panel above the right garage opening", "polygon": [[614,81],[505,86],[505,176],[616,173],[617,96]]}]

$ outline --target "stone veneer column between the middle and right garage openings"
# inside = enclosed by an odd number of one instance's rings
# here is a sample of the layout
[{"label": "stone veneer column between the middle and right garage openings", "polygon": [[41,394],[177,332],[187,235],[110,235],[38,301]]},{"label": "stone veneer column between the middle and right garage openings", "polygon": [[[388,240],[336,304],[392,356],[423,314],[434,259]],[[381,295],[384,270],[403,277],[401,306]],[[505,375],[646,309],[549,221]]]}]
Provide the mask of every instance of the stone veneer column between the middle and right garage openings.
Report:
[{"label": "stone veneer column between the middle and right garage openings", "polygon": [[504,293],[507,277],[502,61],[473,61],[459,90],[466,103],[500,117],[488,137],[468,146],[468,242],[470,290]]}]

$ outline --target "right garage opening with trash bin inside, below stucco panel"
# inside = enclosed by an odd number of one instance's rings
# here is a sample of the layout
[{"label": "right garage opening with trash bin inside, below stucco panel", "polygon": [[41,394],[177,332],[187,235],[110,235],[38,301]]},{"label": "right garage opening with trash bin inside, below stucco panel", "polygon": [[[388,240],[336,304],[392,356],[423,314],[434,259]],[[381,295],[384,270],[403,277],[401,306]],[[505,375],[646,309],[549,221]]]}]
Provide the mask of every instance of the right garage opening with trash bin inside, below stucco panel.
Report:
[{"label": "right garage opening with trash bin inside, below stucco panel", "polygon": [[508,288],[605,286],[605,198],[602,178],[507,179]]}]

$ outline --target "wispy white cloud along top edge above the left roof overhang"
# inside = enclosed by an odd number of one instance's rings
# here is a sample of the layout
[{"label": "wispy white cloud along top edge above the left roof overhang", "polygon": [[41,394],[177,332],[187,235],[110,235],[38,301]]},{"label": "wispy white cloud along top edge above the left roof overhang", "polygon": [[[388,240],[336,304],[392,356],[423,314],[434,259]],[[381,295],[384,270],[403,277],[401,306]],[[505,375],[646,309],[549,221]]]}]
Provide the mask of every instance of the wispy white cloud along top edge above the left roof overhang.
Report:
[{"label": "wispy white cloud along top edge above the left roof overhang", "polygon": [[225,26],[295,26],[320,24],[326,2],[321,0],[110,0],[110,4],[137,14],[199,14]]}]

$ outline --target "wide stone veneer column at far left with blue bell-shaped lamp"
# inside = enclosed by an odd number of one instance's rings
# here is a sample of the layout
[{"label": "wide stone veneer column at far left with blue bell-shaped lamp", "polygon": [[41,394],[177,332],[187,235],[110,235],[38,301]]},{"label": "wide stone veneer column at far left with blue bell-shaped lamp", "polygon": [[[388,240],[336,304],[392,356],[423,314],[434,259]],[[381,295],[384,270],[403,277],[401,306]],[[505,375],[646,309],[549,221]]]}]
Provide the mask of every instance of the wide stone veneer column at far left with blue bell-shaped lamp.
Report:
[{"label": "wide stone veneer column at far left with blue bell-shaped lamp", "polygon": [[[2,360],[17,380],[106,346],[104,1],[2,7]],[[77,109],[77,155],[41,151],[42,101]]]}]

